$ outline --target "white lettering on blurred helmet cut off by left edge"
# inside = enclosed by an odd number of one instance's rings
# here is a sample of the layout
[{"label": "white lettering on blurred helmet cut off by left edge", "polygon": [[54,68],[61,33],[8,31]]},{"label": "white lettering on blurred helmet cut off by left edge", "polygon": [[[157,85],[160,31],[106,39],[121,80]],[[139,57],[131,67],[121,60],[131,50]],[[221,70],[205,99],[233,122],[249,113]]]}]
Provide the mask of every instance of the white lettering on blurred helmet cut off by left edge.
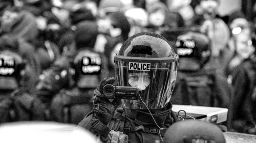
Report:
[{"label": "white lettering on blurred helmet cut off by left edge", "polygon": [[0,76],[13,76],[15,62],[13,59],[0,59]]}]

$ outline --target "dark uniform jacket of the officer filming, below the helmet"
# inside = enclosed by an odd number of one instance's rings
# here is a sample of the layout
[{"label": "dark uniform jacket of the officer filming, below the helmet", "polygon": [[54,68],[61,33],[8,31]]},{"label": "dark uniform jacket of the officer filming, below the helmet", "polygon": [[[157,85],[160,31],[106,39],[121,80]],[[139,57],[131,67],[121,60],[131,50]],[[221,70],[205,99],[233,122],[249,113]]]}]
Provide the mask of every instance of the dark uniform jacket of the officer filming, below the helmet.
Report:
[{"label": "dark uniform jacket of the officer filming, below the helmet", "polygon": [[[169,102],[165,107],[151,109],[159,127],[167,129],[177,121]],[[161,141],[166,130],[160,130],[147,109],[117,108],[108,126],[90,113],[78,125],[94,133],[102,142],[155,142]],[[160,137],[161,135],[161,137]]]}]

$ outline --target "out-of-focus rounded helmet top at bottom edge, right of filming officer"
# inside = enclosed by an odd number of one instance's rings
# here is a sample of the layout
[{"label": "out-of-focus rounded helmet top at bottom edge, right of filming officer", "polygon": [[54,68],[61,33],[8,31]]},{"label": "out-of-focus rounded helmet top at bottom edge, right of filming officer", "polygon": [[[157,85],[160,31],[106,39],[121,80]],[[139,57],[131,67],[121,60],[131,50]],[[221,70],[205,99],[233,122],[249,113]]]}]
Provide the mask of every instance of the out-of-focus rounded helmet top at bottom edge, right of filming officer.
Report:
[{"label": "out-of-focus rounded helmet top at bottom edge, right of filming officer", "polygon": [[165,133],[163,142],[215,142],[225,143],[222,130],[218,125],[199,121],[185,120],[174,123]]}]

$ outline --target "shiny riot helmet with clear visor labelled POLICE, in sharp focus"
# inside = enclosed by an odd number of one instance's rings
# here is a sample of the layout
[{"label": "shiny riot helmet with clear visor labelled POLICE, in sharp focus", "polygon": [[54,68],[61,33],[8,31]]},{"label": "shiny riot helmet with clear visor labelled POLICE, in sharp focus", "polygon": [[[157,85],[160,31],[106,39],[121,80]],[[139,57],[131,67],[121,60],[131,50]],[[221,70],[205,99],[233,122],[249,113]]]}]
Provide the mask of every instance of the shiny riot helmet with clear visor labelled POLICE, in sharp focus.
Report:
[{"label": "shiny riot helmet with clear visor labelled POLICE, in sharp focus", "polygon": [[169,102],[178,55],[164,37],[151,32],[136,34],[123,43],[114,62],[117,85],[139,88],[138,100],[122,99],[122,107],[144,109],[145,103],[148,108],[162,108]]}]

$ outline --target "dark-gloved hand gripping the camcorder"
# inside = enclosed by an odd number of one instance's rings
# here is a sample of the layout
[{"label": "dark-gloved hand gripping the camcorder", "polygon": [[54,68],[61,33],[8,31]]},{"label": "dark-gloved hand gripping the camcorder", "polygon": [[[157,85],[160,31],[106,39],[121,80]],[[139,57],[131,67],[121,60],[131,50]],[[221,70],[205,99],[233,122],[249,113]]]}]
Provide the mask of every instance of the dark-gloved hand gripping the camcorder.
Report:
[{"label": "dark-gloved hand gripping the camcorder", "polygon": [[102,89],[106,84],[113,84],[114,77],[108,77],[101,80],[98,88],[94,91],[93,97],[93,116],[107,125],[115,112],[116,107],[120,104],[120,100],[114,99],[112,102],[108,98],[103,97]]}]

